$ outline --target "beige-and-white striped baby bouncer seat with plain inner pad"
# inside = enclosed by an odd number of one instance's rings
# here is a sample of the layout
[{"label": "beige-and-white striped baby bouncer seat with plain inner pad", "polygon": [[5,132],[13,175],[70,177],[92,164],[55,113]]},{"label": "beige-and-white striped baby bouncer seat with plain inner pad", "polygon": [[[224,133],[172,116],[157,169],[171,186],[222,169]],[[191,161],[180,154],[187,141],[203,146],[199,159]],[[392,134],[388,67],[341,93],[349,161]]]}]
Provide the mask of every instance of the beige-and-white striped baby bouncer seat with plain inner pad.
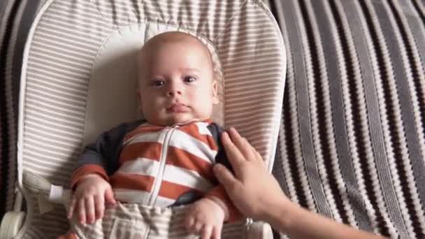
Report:
[{"label": "beige-and-white striped baby bouncer seat with plain inner pad", "polygon": [[[286,57],[278,24],[262,1],[46,1],[24,52],[20,192],[16,212],[3,219],[2,238],[54,238],[69,229],[62,190],[69,187],[82,147],[102,131],[141,117],[136,53],[164,31],[184,31],[208,45],[222,73],[213,119],[234,126],[271,170]],[[19,212],[22,204],[25,212]],[[178,226],[170,226],[179,223],[175,218],[182,218],[186,208],[144,208],[159,219],[150,220],[143,238],[189,238]],[[113,219],[120,217],[119,212],[110,213]],[[153,217],[149,213],[146,217]],[[272,237],[267,224],[242,221],[225,224],[222,238]],[[115,221],[108,223],[114,227]],[[86,236],[112,238],[108,233],[94,229]]]}]

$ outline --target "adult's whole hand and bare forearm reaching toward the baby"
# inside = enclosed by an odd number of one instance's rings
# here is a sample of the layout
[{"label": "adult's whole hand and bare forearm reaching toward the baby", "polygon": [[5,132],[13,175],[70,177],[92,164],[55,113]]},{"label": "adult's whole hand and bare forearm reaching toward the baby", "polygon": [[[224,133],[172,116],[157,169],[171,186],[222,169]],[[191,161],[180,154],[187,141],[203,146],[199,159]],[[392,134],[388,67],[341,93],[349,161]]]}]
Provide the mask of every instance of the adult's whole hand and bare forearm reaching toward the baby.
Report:
[{"label": "adult's whole hand and bare forearm reaching toward the baby", "polygon": [[259,153],[235,129],[230,129],[229,134],[223,133],[222,142],[234,175],[219,164],[214,166],[214,173],[245,216],[268,222],[291,238],[384,238],[337,223],[291,203],[275,178],[268,173]]}]

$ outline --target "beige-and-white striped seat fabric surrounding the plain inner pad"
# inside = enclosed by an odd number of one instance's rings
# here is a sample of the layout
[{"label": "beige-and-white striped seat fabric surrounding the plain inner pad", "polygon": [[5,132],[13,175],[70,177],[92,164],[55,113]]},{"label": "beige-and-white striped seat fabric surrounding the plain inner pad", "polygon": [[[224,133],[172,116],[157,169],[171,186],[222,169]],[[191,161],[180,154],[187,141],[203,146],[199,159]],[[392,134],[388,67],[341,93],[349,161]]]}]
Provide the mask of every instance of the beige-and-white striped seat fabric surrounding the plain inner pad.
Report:
[{"label": "beige-and-white striped seat fabric surrounding the plain inner pad", "polygon": [[[26,170],[69,184],[84,140],[96,54],[110,34],[138,22],[171,24],[215,45],[225,78],[224,123],[236,126],[271,165],[286,58],[278,24],[263,2],[56,0],[43,6],[24,55],[20,175]],[[29,216],[18,236],[50,238],[66,231],[63,208],[41,215],[36,195],[25,196]]]}]

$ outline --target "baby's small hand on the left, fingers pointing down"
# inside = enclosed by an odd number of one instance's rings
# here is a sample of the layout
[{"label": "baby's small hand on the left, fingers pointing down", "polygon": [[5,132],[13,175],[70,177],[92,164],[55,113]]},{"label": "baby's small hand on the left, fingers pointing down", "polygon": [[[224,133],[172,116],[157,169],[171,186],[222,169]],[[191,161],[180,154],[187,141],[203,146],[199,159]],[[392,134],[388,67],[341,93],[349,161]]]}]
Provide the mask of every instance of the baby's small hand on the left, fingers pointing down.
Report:
[{"label": "baby's small hand on the left, fingers pointing down", "polygon": [[71,218],[75,211],[81,224],[92,224],[103,217],[105,203],[115,204],[110,184],[99,175],[87,175],[78,182],[69,201],[68,218]]}]

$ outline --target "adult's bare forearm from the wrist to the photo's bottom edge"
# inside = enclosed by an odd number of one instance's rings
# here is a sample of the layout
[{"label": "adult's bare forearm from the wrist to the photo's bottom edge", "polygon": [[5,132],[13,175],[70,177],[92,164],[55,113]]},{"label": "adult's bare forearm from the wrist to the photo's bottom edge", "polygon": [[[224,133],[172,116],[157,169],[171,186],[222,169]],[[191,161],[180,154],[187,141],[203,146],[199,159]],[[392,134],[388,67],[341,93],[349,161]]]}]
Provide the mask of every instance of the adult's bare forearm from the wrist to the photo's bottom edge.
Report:
[{"label": "adult's bare forearm from the wrist to the photo's bottom edge", "polygon": [[274,210],[269,222],[275,229],[291,236],[291,238],[384,238],[340,224],[332,219],[305,210],[294,203]]}]

